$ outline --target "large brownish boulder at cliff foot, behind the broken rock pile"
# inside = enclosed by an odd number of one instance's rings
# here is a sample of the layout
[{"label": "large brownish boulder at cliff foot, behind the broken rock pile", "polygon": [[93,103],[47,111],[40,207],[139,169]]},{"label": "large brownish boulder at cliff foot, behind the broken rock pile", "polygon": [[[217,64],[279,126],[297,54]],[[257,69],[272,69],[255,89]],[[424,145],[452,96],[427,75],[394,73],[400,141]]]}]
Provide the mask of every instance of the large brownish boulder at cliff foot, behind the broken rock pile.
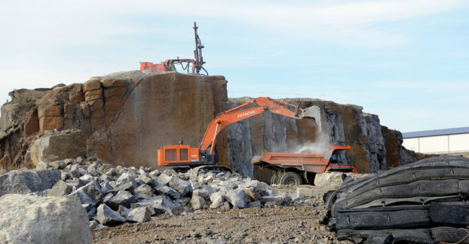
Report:
[{"label": "large brownish boulder at cliff foot, behind the broken rock pile", "polygon": [[30,147],[32,163],[37,165],[39,162],[85,157],[86,137],[87,135],[80,130],[43,135],[35,140]]}]

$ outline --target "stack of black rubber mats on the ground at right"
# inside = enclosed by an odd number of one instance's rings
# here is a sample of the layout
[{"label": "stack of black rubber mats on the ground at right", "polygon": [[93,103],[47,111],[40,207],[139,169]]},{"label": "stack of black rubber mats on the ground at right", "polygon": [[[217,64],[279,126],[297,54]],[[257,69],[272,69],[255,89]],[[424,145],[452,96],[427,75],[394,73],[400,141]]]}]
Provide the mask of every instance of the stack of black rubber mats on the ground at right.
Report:
[{"label": "stack of black rubber mats on the ground at right", "polygon": [[323,223],[355,243],[469,243],[469,159],[430,157],[324,195]]}]

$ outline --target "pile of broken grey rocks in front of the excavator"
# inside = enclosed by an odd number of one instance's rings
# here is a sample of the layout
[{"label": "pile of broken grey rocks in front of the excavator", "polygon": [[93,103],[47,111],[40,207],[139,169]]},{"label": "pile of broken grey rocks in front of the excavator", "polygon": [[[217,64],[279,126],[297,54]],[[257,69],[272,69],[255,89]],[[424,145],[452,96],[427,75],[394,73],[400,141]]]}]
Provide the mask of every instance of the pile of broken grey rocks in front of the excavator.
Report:
[{"label": "pile of broken grey rocks in front of the excavator", "polygon": [[90,228],[147,222],[158,214],[191,214],[232,208],[317,205],[298,193],[278,194],[267,184],[228,168],[175,170],[112,166],[100,159],[40,162],[34,170],[0,175],[0,195],[68,197],[85,208]]}]

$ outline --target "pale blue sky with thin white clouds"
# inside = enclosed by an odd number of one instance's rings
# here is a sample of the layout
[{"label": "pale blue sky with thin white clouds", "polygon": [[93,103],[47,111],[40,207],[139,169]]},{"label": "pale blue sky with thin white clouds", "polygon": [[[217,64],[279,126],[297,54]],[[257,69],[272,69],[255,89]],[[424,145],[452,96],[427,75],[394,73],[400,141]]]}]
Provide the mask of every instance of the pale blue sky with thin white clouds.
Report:
[{"label": "pale blue sky with thin white clouds", "polygon": [[192,58],[229,97],[357,104],[402,132],[469,126],[469,1],[1,1],[8,91]]}]

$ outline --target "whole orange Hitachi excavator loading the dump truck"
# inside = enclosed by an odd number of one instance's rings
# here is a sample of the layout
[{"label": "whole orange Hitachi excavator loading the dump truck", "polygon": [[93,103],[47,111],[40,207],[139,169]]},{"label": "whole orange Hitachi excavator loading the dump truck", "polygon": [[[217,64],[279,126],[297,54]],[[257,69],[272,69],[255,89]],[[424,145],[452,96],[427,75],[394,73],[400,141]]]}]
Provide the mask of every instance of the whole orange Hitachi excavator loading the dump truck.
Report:
[{"label": "whole orange Hitachi excavator loading the dump truck", "polygon": [[320,108],[317,106],[300,109],[298,105],[273,98],[255,98],[251,102],[218,114],[207,126],[203,140],[197,148],[184,145],[182,141],[175,145],[163,146],[163,148],[158,150],[158,166],[204,166],[216,164],[218,161],[216,153],[216,136],[218,133],[229,124],[264,113],[265,111],[295,119],[311,118],[317,127],[321,129]]}]

